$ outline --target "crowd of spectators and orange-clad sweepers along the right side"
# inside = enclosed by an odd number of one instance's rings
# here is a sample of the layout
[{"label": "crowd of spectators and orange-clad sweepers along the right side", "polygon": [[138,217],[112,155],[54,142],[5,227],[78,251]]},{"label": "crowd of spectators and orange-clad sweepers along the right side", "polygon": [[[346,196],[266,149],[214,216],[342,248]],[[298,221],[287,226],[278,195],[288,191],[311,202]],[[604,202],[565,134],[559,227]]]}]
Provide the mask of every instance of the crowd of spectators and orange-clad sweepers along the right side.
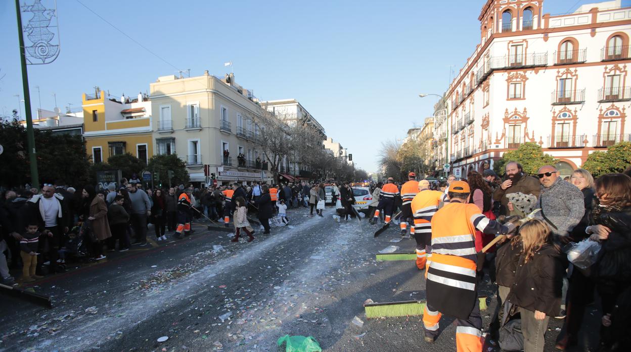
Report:
[{"label": "crowd of spectators and orange-clad sweepers along the right side", "polygon": [[[589,171],[576,169],[563,179],[551,165],[529,175],[512,161],[504,179],[485,169],[469,171],[461,180],[451,175],[445,183],[416,181],[410,173],[402,185],[392,178],[376,185],[371,222],[380,215],[386,223],[398,220],[401,236],[408,236],[409,225],[416,240],[416,266],[427,280],[425,341],[434,341],[440,316],[447,314],[457,319],[458,351],[481,351],[476,299],[486,271],[498,297],[489,337],[500,347],[519,350],[502,346],[500,334],[517,321],[524,351],[543,351],[550,318],[565,319],[556,348],[575,346],[586,307],[594,303],[601,308],[599,351],[629,346],[630,176],[631,167],[595,180]],[[492,244],[501,234],[506,236]],[[581,241],[600,247],[586,268],[567,255]]]}]

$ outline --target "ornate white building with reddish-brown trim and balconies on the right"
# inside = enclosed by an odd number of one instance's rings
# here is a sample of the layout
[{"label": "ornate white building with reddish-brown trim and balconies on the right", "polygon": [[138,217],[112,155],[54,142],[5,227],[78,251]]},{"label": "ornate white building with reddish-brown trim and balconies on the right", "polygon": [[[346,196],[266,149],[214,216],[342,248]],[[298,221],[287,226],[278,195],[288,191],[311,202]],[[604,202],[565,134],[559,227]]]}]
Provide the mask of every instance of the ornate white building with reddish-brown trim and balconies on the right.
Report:
[{"label": "ornate white building with reddish-brown trim and balconies on the right", "polygon": [[631,140],[631,8],[615,0],[551,16],[543,3],[484,4],[480,43],[436,107],[436,164],[448,159],[466,176],[535,142],[565,176],[594,150]]}]

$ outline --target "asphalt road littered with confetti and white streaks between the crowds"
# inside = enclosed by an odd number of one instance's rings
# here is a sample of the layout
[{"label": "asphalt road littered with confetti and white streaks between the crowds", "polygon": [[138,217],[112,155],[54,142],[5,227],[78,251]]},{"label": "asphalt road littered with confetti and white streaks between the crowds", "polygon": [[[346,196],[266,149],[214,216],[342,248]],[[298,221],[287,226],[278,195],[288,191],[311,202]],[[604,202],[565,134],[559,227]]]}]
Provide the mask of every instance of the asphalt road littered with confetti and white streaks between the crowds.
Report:
[{"label": "asphalt road littered with confetti and white streaks between the crowds", "polygon": [[[196,224],[184,240],[110,253],[105,263],[49,276],[34,288],[52,296],[52,310],[0,296],[0,351],[284,351],[276,340],[285,334],[313,336],[326,351],[456,350],[449,317],[429,345],[420,316],[363,314],[367,298],[425,298],[413,261],[375,261],[390,245],[413,251],[413,240],[390,242],[399,238],[396,226],[375,239],[374,225],[335,223],[331,209],[323,218],[306,214],[288,211],[289,226],[274,227],[271,236],[257,230],[251,243]],[[482,312],[488,326],[493,288],[482,285],[480,294],[490,297]],[[352,323],[355,316],[362,326]],[[546,351],[561,325],[551,321]],[[584,334],[588,345],[593,335]],[[162,336],[168,340],[157,342]],[[499,349],[488,344],[485,351]]]}]

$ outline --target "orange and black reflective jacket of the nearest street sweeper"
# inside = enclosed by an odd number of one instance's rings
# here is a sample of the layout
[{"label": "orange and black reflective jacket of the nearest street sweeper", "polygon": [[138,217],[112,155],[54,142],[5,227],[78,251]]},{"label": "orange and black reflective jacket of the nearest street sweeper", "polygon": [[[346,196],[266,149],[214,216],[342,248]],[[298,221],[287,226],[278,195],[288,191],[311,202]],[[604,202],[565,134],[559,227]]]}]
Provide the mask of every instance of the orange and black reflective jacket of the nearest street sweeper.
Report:
[{"label": "orange and black reflective jacket of the nearest street sweeper", "polygon": [[433,309],[459,319],[467,319],[476,304],[473,222],[479,222],[479,217],[486,219],[477,205],[453,202],[440,208],[431,222],[432,263],[427,271],[427,302]]}]

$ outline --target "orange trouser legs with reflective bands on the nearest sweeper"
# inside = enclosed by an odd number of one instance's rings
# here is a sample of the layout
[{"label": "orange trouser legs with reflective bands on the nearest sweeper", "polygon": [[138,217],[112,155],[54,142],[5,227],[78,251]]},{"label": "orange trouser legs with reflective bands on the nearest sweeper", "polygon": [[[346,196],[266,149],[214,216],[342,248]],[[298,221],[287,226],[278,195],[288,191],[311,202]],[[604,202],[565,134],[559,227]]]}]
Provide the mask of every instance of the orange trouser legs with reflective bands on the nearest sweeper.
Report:
[{"label": "orange trouser legs with reflective bands on the nearest sweeper", "polygon": [[[423,310],[423,327],[425,336],[436,339],[438,336],[439,321],[442,314],[432,310],[428,302]],[[480,317],[480,304],[476,300],[473,310],[466,320],[456,319],[456,351],[457,352],[481,352],[484,345],[482,337],[482,318]]]}]

